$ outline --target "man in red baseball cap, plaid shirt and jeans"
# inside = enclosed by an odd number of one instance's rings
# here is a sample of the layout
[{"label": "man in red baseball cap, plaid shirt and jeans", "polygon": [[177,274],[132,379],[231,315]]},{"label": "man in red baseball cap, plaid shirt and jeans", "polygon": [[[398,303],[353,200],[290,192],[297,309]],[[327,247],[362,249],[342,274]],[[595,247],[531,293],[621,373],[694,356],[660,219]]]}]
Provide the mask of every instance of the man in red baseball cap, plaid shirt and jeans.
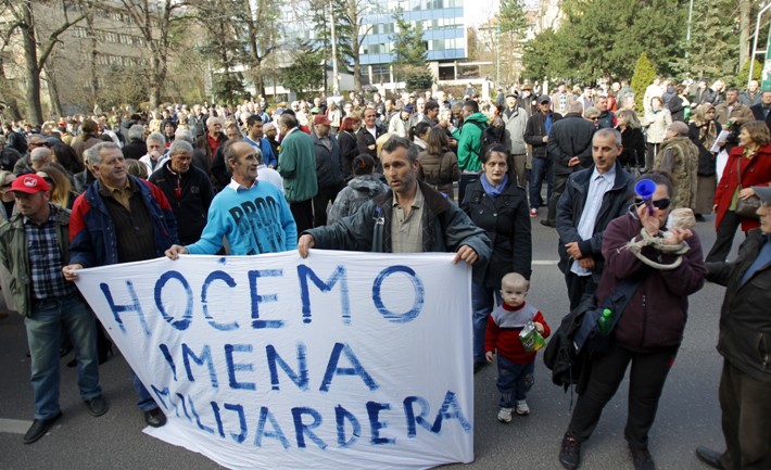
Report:
[{"label": "man in red baseball cap, plaid shirt and jeans", "polygon": [[24,443],[39,440],[61,418],[59,408],[59,348],[62,326],[75,347],[80,398],[88,412],[101,416],[108,402],[99,386],[97,328],[93,314],[67,282],[62,268],[69,262],[69,211],[50,203],[51,187],[37,175],[22,175],[11,183],[17,213],[0,225],[0,263],[26,282],[11,285],[24,316],[31,357],[35,421]]}]

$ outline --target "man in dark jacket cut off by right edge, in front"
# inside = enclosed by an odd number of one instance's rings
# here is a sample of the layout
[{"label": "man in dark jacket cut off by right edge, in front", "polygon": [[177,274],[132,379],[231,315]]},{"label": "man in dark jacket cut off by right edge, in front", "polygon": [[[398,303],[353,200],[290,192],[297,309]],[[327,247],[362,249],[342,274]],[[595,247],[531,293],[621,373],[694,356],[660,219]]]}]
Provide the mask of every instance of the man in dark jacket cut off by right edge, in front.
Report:
[{"label": "man in dark jacket cut off by right edge, in front", "polygon": [[753,190],[762,201],[760,230],[747,233],[735,261],[707,264],[707,279],[728,288],[718,340],[725,452],[698,447],[696,455],[717,469],[771,468],[771,188]]}]

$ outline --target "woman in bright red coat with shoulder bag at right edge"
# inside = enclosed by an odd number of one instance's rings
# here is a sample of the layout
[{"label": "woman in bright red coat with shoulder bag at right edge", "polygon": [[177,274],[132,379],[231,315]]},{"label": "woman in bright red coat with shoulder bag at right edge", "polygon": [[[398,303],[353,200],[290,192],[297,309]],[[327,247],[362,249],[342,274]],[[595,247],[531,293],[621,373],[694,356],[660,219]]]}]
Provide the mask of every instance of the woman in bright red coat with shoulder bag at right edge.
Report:
[{"label": "woman in bright red coat with shoulder bag at right edge", "polygon": [[715,192],[712,212],[717,214],[715,224],[718,238],[707,255],[708,263],[725,262],[740,224],[745,233],[760,226],[757,219],[741,217],[734,209],[740,199],[755,195],[750,187],[769,186],[771,182],[771,134],[766,123],[754,120],[745,124],[738,140],[740,147],[729,154],[725,170]]}]

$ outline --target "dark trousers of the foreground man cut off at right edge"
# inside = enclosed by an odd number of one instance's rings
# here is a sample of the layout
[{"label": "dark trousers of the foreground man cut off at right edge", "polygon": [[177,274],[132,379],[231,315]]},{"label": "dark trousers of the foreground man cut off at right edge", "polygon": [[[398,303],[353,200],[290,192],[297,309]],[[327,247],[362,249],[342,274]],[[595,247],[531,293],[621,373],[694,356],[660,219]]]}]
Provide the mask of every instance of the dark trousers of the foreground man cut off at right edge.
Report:
[{"label": "dark trousers of the foreground man cut off at right edge", "polygon": [[720,408],[723,411],[728,470],[771,469],[771,383],[755,380],[723,361]]}]

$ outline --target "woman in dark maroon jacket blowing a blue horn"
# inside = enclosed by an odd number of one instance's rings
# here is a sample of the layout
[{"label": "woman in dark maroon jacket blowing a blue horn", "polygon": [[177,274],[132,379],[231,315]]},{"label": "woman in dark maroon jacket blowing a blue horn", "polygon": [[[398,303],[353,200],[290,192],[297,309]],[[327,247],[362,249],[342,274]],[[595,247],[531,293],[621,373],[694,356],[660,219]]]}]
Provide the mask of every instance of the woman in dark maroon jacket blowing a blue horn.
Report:
[{"label": "woman in dark maroon jacket blowing a blue horn", "polygon": [[[707,272],[702,243],[690,229],[670,228],[671,243],[685,242],[688,251],[682,263],[671,270],[648,267],[632,251],[630,241],[643,239],[642,232],[657,237],[667,230],[672,183],[661,173],[652,172],[644,178],[653,180],[656,191],[649,204],[640,201],[631,211],[608,224],[603,236],[605,269],[597,288],[598,303],[610,296],[622,280],[639,280],[640,284],[608,333],[607,351],[595,354],[589,381],[573,408],[568,430],[563,439],[559,460],[567,469],[580,463],[581,443],[597,425],[603,408],[616,394],[630,363],[629,405],[624,437],[635,470],[654,469],[648,452],[648,431],[656,418],[658,401],[667,374],[674,363],[683,339],[687,318],[687,296],[702,289]],[[645,250],[656,250],[648,246]],[[657,256],[648,253],[648,256]],[[660,253],[663,264],[673,255]]]}]

